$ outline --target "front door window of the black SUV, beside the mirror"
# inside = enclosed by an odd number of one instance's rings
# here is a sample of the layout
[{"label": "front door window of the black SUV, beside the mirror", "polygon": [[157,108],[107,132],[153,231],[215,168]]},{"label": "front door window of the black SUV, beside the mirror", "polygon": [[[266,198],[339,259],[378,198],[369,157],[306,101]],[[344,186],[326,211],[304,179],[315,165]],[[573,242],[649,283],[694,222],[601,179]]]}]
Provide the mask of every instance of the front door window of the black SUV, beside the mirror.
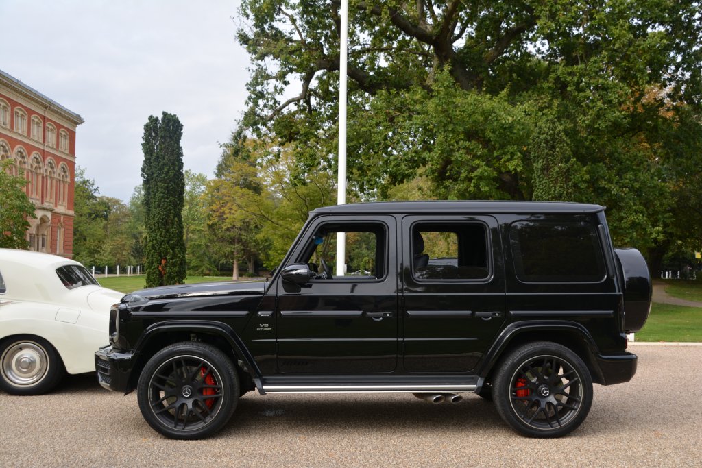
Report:
[{"label": "front door window of the black SUV, beside the mirror", "polygon": [[[337,234],[345,233],[345,272],[337,275]],[[385,276],[387,252],[386,229],[379,223],[321,225],[298,261],[307,263],[319,279],[380,279]]]}]

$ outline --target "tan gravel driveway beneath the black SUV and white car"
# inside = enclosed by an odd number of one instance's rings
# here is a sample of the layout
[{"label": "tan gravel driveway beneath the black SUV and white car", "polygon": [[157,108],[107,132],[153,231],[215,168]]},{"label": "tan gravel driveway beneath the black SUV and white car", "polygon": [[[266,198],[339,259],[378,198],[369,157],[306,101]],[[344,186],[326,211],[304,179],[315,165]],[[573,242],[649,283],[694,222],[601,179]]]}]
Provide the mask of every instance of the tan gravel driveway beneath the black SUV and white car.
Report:
[{"label": "tan gravel driveway beneath the black SUV and white car", "polygon": [[134,394],[69,377],[46,396],[0,392],[1,467],[699,466],[702,347],[636,345],[632,382],[595,385],[583,425],[525,439],[491,403],[432,405],[410,394],[246,394],[211,439],[171,441]]}]

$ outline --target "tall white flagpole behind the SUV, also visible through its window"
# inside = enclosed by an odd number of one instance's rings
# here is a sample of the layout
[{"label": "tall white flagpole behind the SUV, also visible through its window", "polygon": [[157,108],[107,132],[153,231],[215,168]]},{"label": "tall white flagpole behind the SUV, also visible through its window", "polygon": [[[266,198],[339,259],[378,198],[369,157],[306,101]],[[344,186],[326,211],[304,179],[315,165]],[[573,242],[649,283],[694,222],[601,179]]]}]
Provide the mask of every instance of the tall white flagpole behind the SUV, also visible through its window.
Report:
[{"label": "tall white flagpole behind the SUV, also visible through its window", "polygon": [[[346,62],[348,58],[348,0],[341,0],[341,38],[339,48],[339,160],[336,204],[346,203]],[[336,274],[343,276],[346,234],[336,234]]]}]

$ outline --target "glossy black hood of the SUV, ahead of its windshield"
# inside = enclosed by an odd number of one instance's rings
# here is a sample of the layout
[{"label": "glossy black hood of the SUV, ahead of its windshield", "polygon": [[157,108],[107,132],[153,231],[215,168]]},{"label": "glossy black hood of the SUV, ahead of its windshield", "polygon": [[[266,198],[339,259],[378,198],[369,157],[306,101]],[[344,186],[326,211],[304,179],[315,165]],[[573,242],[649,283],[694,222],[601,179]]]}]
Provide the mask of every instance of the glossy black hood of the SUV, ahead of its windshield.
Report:
[{"label": "glossy black hood of the SUV, ahead of its windshield", "polygon": [[218,281],[213,283],[178,284],[134,291],[122,298],[129,302],[133,296],[144,299],[171,299],[175,297],[199,297],[213,295],[263,295],[265,281]]}]

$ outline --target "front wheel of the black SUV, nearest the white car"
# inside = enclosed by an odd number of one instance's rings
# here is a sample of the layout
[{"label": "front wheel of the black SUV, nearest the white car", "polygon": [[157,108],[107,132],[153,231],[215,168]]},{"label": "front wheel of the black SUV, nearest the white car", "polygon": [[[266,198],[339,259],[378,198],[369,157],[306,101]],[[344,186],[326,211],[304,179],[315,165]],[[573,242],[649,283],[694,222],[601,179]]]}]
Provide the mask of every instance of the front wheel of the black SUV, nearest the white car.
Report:
[{"label": "front wheel of the black SUV, nearest the white car", "polygon": [[137,387],[139,409],[170,439],[202,439],[218,432],[239,400],[232,361],[201,342],[161,349],[146,363]]}]

